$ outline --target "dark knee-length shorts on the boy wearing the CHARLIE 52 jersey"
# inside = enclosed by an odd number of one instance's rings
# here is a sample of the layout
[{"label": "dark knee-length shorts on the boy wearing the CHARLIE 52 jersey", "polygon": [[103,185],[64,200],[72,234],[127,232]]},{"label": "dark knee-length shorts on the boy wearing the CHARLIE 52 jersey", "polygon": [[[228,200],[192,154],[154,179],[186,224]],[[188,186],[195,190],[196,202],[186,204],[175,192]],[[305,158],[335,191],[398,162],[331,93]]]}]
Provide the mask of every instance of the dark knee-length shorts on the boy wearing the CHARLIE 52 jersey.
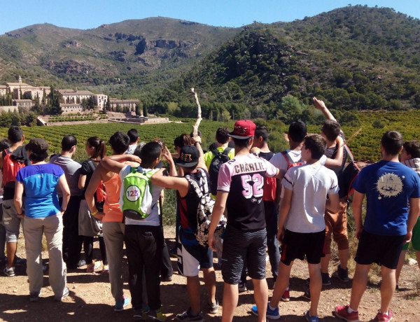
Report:
[{"label": "dark knee-length shorts on the boy wearing the CHARLIE 52 jersey", "polygon": [[239,283],[244,265],[247,265],[248,276],[251,279],[265,279],[266,251],[265,228],[254,232],[242,232],[228,226],[223,237],[223,281],[232,285]]}]

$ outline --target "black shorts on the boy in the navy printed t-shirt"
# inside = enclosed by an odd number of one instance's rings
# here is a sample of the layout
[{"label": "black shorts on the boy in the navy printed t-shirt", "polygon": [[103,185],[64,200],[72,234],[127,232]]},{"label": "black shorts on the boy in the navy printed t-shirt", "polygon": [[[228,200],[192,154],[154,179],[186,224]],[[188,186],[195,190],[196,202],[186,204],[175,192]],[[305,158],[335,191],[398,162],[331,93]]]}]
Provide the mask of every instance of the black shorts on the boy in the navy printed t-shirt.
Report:
[{"label": "black shorts on the boy in the navy printed t-shirt", "polygon": [[360,265],[384,265],[396,269],[405,235],[375,235],[363,230],[354,260]]}]

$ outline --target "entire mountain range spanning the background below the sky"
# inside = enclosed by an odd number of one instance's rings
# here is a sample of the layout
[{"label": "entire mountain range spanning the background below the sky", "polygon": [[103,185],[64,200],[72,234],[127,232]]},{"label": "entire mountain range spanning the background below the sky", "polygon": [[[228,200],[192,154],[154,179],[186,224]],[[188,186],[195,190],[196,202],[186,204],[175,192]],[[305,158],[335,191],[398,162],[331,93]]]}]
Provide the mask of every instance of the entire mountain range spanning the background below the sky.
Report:
[{"label": "entire mountain range spanning the background below the sky", "polygon": [[44,24],[0,36],[0,83],[21,75],[85,87],[181,117],[195,113],[190,87],[206,117],[279,118],[290,95],[341,111],[418,109],[419,52],[420,20],[360,5],[237,29],[169,18],[90,30]]}]

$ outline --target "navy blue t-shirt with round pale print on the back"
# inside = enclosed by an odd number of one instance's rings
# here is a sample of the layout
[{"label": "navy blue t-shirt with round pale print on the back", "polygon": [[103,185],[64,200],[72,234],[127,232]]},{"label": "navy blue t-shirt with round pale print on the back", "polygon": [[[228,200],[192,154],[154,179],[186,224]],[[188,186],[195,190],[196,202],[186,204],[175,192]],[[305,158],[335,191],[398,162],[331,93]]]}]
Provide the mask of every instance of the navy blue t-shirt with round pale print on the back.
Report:
[{"label": "navy blue t-shirt with round pale print on the back", "polygon": [[408,200],[420,197],[416,172],[400,162],[382,160],[363,168],[353,188],[367,199],[363,230],[386,236],[407,234]]}]

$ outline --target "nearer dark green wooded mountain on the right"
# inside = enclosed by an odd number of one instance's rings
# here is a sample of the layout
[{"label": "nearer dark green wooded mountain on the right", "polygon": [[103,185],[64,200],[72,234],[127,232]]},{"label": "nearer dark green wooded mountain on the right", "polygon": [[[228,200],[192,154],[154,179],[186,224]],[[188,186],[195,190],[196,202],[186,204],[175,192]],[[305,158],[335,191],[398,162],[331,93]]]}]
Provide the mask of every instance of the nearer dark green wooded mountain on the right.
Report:
[{"label": "nearer dark green wooded mountain on the right", "polygon": [[195,85],[213,102],[260,106],[268,118],[289,94],[305,103],[316,95],[344,111],[420,108],[419,52],[420,20],[349,6],[247,26],[171,88]]}]

